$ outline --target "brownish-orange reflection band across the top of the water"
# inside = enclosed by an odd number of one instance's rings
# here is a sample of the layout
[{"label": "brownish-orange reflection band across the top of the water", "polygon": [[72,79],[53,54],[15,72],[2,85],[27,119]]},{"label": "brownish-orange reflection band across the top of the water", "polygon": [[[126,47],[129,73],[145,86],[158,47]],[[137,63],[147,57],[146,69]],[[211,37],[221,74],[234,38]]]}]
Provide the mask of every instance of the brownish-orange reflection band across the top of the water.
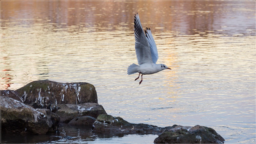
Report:
[{"label": "brownish-orange reflection band across the top of the water", "polygon": [[[133,27],[133,13],[142,25],[180,34],[213,31],[224,35],[248,33],[254,28],[255,7],[250,1],[190,2],[8,2],[2,3],[2,19],[17,24],[53,23],[56,28],[76,25],[91,30]],[[94,27],[94,28],[93,28]],[[163,29],[164,28],[164,29]]]}]

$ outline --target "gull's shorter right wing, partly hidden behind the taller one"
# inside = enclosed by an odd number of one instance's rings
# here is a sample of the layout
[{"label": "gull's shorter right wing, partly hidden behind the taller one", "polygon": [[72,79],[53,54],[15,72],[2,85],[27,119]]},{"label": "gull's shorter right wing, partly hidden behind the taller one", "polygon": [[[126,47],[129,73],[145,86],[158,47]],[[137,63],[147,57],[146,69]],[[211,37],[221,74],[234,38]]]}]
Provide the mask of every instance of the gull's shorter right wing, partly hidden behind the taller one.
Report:
[{"label": "gull's shorter right wing, partly hidden behind the taller one", "polygon": [[158,52],[157,52],[156,43],[152,36],[150,28],[147,28],[147,30],[145,30],[145,33],[146,33],[146,37],[148,39],[148,43],[150,46],[151,58],[152,58],[153,62],[156,63],[156,61],[158,59]]}]

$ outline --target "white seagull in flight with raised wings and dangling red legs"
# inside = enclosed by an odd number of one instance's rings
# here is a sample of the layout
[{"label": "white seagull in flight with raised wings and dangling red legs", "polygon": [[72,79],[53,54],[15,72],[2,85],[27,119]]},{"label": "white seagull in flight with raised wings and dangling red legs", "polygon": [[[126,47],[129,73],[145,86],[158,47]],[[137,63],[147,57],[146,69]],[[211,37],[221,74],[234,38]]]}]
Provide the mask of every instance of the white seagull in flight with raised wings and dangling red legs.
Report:
[{"label": "white seagull in flight with raised wings and dangling red legs", "polygon": [[[136,81],[140,78],[140,74],[150,75],[164,69],[171,68],[168,68],[164,64],[156,64],[156,61],[158,59],[158,53],[151,30],[150,28],[147,28],[147,30],[145,30],[145,35],[140,23],[139,14],[135,14],[134,17],[135,51],[139,66],[133,63],[128,67],[127,74],[132,75],[135,73],[139,73],[139,76],[134,80]],[[142,75],[140,84],[142,82]]]}]

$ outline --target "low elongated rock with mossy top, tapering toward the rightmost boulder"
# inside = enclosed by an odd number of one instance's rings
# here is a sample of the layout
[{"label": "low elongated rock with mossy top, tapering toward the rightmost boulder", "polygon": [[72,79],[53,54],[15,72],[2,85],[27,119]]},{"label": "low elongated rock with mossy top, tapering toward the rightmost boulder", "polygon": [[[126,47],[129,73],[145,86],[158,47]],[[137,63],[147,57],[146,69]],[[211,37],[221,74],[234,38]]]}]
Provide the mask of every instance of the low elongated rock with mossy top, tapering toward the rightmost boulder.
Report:
[{"label": "low elongated rock with mossy top, tapering toward the rightmost boulder", "polygon": [[101,114],[93,124],[93,132],[113,134],[160,134],[165,128],[149,124],[132,124],[121,117]]}]

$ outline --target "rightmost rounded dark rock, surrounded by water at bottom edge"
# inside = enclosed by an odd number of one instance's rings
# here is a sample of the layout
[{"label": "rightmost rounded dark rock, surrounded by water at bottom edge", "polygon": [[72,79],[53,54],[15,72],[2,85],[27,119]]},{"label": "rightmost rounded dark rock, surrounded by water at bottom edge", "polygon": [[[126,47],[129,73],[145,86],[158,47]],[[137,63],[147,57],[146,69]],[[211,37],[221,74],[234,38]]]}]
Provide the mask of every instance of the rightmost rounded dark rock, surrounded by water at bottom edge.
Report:
[{"label": "rightmost rounded dark rock, surrounded by water at bottom edge", "polygon": [[219,143],[224,139],[212,128],[196,125],[175,126],[162,133],[154,140],[154,143]]}]

